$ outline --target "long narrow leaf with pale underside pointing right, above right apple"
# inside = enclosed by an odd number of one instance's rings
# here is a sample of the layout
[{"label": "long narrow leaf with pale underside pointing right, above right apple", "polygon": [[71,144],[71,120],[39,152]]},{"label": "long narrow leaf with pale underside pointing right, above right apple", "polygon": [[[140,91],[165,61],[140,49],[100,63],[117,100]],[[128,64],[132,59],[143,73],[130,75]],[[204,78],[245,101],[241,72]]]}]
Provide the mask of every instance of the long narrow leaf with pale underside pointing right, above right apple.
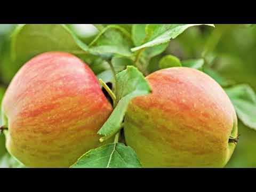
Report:
[{"label": "long narrow leaf with pale underside pointing right, above right apple", "polygon": [[149,24],[146,27],[146,35],[148,40],[145,44],[134,47],[131,51],[138,51],[145,47],[153,47],[168,43],[171,39],[176,38],[183,33],[187,28],[197,25],[209,25],[212,24]]}]

